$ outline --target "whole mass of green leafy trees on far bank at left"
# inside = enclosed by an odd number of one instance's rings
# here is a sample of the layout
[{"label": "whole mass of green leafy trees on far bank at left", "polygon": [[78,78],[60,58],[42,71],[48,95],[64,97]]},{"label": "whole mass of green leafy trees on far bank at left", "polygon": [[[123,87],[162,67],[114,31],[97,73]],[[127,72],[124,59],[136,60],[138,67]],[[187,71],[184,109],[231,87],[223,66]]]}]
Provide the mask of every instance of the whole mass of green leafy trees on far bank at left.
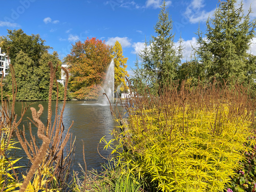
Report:
[{"label": "whole mass of green leafy trees on far bank at left", "polygon": [[[56,68],[60,63],[57,52],[48,53],[49,46],[39,35],[27,35],[23,30],[8,30],[8,35],[1,37],[3,51],[9,48],[9,57],[15,71],[17,84],[17,100],[47,100],[49,92],[51,61]],[[56,78],[60,77],[60,69]],[[63,89],[59,84],[60,97]],[[8,75],[5,81],[5,95],[12,95],[12,78]],[[53,90],[53,99],[56,99],[56,85]]]}]

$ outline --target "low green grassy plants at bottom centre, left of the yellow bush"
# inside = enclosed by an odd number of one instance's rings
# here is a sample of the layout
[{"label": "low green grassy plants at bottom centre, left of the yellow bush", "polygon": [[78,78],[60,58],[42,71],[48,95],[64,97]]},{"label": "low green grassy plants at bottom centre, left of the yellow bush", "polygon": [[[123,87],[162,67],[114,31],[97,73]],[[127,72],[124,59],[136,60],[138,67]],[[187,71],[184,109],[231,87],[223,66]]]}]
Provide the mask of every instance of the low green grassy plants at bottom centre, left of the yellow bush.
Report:
[{"label": "low green grassy plants at bottom centre, left of the yellow bush", "polygon": [[[115,160],[102,164],[102,171],[98,173],[96,170],[89,171],[87,174],[81,167],[83,176],[78,177],[74,173],[71,191],[99,191],[99,192],[135,192],[143,191],[141,181],[134,175],[125,173],[125,164],[116,164]],[[86,182],[84,183],[84,176]]]}]

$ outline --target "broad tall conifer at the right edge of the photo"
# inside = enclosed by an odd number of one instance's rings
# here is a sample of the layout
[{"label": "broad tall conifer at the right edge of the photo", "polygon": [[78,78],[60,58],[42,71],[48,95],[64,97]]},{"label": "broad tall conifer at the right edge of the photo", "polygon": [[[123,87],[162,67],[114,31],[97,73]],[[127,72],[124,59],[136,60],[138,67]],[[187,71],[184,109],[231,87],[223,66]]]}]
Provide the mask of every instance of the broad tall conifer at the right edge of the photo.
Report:
[{"label": "broad tall conifer at the right edge of the photo", "polygon": [[[221,2],[214,18],[206,22],[205,38],[198,31],[197,50],[206,80],[230,78],[242,81],[255,79],[255,56],[247,53],[255,37],[256,20],[250,20],[249,10],[243,13],[243,4],[236,0]],[[202,76],[204,76],[202,75]]]}]

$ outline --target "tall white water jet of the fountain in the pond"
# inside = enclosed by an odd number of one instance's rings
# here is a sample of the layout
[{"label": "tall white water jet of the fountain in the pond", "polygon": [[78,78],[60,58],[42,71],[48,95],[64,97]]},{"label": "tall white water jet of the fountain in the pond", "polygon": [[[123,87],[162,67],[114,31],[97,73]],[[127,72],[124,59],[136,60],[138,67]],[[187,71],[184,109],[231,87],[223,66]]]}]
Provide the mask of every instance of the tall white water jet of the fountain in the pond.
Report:
[{"label": "tall white water jet of the fountain in the pond", "polygon": [[[115,63],[114,63],[114,59],[111,60],[110,66],[108,68],[108,70],[106,71],[106,76],[105,76],[105,80],[103,82],[103,86],[102,86],[102,91],[101,91],[101,95],[99,96],[98,100],[99,100],[99,104],[101,105],[109,105],[110,102],[111,104],[114,103],[114,82],[115,82]],[[106,94],[106,96],[108,96],[108,98],[103,95],[103,93]]]}]

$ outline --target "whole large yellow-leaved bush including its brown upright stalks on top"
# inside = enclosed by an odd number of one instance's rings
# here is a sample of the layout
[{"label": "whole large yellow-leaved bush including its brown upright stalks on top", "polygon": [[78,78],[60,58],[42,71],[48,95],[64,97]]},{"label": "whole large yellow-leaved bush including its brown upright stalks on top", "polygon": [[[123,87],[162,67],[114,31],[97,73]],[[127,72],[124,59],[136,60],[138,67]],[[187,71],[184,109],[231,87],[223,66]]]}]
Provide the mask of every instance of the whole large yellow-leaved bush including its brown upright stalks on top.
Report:
[{"label": "whole large yellow-leaved bush including its brown upright stalks on top", "polygon": [[126,163],[125,173],[149,178],[162,191],[224,191],[255,143],[247,140],[255,102],[239,85],[191,88],[183,81],[160,96],[135,95],[125,107],[129,129],[113,132],[119,144],[102,140]]}]

